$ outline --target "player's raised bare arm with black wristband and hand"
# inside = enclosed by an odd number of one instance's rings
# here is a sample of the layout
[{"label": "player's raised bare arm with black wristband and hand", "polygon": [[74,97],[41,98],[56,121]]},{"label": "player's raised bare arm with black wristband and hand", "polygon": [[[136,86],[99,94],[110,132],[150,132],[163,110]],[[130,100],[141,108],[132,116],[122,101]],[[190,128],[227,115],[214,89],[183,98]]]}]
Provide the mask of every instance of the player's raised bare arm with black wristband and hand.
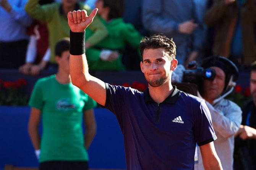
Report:
[{"label": "player's raised bare arm with black wristband and hand", "polygon": [[98,9],[94,9],[89,16],[86,10],[68,13],[70,26],[70,75],[72,83],[83,90],[97,103],[105,106],[106,88],[102,80],[89,74],[84,50],[84,31],[93,21]]}]

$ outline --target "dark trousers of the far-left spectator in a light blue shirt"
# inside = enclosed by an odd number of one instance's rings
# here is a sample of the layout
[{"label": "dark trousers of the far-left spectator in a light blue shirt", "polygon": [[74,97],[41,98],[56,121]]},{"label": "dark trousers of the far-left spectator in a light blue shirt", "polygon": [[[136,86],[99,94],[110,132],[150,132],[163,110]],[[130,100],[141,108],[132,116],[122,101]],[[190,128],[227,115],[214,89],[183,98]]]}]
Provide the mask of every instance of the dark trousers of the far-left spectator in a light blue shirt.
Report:
[{"label": "dark trousers of the far-left spectator in a light blue shirt", "polygon": [[0,42],[0,68],[18,69],[26,61],[28,40]]}]

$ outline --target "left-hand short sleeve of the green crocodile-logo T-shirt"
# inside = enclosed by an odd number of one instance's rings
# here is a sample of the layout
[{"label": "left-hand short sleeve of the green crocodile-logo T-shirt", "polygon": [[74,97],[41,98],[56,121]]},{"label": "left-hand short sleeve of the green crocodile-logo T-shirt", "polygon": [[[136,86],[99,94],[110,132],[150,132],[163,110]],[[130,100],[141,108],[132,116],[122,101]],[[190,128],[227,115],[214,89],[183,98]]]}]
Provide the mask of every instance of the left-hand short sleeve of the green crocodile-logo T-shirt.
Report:
[{"label": "left-hand short sleeve of the green crocodile-logo T-shirt", "polygon": [[43,93],[40,81],[37,81],[29,99],[29,106],[42,110],[44,106]]}]

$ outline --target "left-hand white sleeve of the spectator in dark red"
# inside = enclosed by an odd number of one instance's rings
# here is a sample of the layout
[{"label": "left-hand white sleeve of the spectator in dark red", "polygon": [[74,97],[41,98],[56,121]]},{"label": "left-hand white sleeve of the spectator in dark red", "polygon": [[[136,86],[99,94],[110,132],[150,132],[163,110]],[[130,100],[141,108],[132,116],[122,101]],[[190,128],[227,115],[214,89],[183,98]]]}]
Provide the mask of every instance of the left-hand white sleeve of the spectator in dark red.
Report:
[{"label": "left-hand white sleeve of the spectator in dark red", "polygon": [[37,53],[36,44],[36,36],[31,35],[29,38],[28,48],[26,52],[26,63],[34,63]]}]

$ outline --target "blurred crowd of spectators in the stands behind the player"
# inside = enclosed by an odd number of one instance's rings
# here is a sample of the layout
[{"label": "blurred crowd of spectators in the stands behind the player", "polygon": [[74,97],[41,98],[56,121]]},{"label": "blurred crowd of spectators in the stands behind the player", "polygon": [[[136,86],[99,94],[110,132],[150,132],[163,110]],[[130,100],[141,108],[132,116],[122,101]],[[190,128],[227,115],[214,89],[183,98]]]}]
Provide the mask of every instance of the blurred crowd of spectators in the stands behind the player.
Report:
[{"label": "blurred crowd of spectators in the stands behind the player", "polygon": [[57,69],[54,47],[69,37],[68,11],[99,8],[86,29],[91,70],[139,70],[139,42],[163,33],[178,64],[224,56],[240,71],[256,59],[254,0],[1,0],[0,68],[38,75]]}]

